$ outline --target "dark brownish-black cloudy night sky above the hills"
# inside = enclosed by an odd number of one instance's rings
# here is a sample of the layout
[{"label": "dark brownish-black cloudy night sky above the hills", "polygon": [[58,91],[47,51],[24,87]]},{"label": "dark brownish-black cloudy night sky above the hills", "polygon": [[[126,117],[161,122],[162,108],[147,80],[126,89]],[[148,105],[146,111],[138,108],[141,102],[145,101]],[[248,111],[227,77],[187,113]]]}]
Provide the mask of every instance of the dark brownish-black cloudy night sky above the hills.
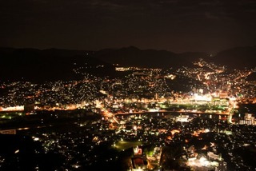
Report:
[{"label": "dark brownish-black cloudy night sky above the hills", "polygon": [[256,45],[256,0],[2,0],[0,46],[217,52]]}]

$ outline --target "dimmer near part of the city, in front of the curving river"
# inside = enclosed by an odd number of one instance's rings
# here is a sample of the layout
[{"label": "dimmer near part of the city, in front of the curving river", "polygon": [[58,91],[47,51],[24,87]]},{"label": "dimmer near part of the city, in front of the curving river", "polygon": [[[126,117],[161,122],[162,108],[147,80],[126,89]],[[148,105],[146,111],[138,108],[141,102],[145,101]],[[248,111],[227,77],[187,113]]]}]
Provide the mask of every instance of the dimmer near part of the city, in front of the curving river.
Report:
[{"label": "dimmer near part of the city, in front of the curving river", "polygon": [[[122,113],[85,119],[70,112],[65,121],[65,113],[50,113],[54,119],[42,121],[35,115],[36,125],[15,133],[30,135],[42,144],[42,149],[36,150],[38,155],[54,155],[52,165],[59,169],[93,169],[98,165],[110,169],[125,165],[127,170],[256,168],[252,158],[256,149],[254,125],[230,125],[207,113]],[[130,148],[133,151],[129,152]]]}]

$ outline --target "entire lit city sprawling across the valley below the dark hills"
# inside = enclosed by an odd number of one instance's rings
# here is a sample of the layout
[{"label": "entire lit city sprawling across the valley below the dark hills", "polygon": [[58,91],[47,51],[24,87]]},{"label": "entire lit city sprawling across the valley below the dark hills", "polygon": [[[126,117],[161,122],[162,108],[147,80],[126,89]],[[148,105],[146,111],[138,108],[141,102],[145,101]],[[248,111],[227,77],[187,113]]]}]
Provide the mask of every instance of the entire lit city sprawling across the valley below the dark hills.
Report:
[{"label": "entire lit city sprawling across the valley below the dark hills", "polygon": [[[0,110],[26,112],[1,113],[1,124],[33,121],[17,134],[33,136],[42,144],[37,153],[54,155],[53,167],[63,170],[255,169],[254,113],[237,113],[232,121],[238,104],[255,102],[255,84],[246,81],[255,70],[194,64],[175,71],[118,67],[126,73],[118,78],[83,73],[69,82],[1,83]],[[177,83],[186,90],[174,90]],[[79,109],[97,117],[83,120]],[[47,117],[38,114],[44,111]],[[8,165],[1,157],[0,165]]]}]

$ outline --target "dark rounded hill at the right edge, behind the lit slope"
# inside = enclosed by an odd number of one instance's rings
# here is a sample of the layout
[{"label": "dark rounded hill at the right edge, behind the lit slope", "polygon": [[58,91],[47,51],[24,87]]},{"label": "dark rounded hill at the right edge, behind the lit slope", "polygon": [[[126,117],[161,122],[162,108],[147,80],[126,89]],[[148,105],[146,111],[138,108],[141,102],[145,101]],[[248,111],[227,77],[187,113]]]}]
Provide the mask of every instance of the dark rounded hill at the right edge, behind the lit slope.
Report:
[{"label": "dark rounded hill at the right edge, behind the lit slope", "polygon": [[223,50],[210,58],[211,62],[228,66],[230,69],[256,67],[256,46],[235,47]]}]

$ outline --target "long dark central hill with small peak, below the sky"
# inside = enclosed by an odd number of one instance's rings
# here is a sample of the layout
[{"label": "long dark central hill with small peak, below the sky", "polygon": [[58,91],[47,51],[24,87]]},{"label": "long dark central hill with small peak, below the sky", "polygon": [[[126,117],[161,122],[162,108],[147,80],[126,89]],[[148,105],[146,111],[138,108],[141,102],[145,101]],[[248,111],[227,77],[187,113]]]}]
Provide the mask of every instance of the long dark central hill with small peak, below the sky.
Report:
[{"label": "long dark central hill with small peak, below the sky", "polygon": [[95,58],[120,66],[139,66],[146,68],[178,68],[191,66],[199,58],[208,58],[206,53],[175,54],[166,50],[140,50],[130,46],[121,49],[99,50]]}]

